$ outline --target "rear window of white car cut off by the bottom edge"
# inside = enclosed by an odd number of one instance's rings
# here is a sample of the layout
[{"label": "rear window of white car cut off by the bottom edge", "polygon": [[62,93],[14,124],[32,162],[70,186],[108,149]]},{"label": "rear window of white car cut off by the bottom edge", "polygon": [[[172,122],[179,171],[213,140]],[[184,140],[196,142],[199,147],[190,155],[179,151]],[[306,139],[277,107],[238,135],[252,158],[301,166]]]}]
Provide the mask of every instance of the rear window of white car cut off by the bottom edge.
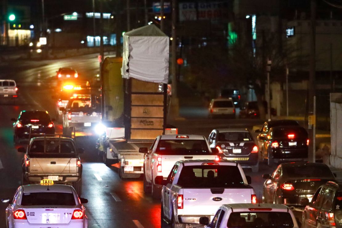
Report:
[{"label": "rear window of white car cut off by the bottom edge", "polygon": [[233,212],[230,214],[227,227],[293,227],[288,212]]}]

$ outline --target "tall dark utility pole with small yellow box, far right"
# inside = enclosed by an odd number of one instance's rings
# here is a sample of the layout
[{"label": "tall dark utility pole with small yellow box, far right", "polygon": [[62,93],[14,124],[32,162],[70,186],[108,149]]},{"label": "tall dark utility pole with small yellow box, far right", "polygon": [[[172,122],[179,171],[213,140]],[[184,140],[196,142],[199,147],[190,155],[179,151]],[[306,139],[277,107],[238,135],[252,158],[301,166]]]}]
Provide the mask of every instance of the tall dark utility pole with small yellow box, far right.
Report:
[{"label": "tall dark utility pole with small yellow box, far right", "polygon": [[310,36],[310,76],[309,76],[309,94],[308,94],[308,161],[315,162],[315,149],[314,148],[314,125],[316,124],[316,116],[314,113],[314,96],[315,96],[315,74],[316,74],[316,0],[311,0],[311,36]]}]

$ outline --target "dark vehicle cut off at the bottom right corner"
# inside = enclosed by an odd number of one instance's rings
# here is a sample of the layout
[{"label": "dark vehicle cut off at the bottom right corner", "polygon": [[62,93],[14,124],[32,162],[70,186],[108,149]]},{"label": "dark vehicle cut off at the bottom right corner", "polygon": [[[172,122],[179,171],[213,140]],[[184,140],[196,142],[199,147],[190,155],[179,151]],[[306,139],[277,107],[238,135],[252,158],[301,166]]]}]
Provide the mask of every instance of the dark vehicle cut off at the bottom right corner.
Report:
[{"label": "dark vehicle cut off at the bottom right corner", "polygon": [[302,227],[342,227],[342,185],[329,181],[319,186],[302,214]]}]

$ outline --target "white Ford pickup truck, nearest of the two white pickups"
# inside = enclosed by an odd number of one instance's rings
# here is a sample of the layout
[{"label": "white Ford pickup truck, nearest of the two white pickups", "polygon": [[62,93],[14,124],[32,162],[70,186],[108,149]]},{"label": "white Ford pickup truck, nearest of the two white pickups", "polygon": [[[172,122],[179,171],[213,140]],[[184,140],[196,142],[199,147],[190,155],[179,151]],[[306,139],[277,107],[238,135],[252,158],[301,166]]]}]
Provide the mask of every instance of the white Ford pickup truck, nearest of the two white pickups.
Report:
[{"label": "white Ford pickup truck, nearest of the two white pickups", "polygon": [[168,178],[158,176],[161,192],[162,227],[199,224],[210,220],[222,204],[256,203],[251,178],[236,162],[185,160],[174,164]]}]

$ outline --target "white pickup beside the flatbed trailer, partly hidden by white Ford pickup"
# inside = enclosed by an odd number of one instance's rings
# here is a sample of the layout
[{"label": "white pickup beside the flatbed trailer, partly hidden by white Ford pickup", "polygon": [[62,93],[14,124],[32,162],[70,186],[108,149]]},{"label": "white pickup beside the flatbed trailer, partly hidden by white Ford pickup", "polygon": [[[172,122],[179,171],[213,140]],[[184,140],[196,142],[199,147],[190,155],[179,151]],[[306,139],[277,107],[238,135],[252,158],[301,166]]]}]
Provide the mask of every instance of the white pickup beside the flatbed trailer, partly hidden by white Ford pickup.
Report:
[{"label": "white pickup beside the flatbed trailer, partly hidden by white Ford pickup", "polygon": [[159,135],[152,146],[140,148],[145,153],[144,160],[144,192],[152,193],[154,199],[160,198],[161,185],[155,178],[169,175],[173,165],[186,159],[219,160],[218,149],[210,148],[202,135]]}]

